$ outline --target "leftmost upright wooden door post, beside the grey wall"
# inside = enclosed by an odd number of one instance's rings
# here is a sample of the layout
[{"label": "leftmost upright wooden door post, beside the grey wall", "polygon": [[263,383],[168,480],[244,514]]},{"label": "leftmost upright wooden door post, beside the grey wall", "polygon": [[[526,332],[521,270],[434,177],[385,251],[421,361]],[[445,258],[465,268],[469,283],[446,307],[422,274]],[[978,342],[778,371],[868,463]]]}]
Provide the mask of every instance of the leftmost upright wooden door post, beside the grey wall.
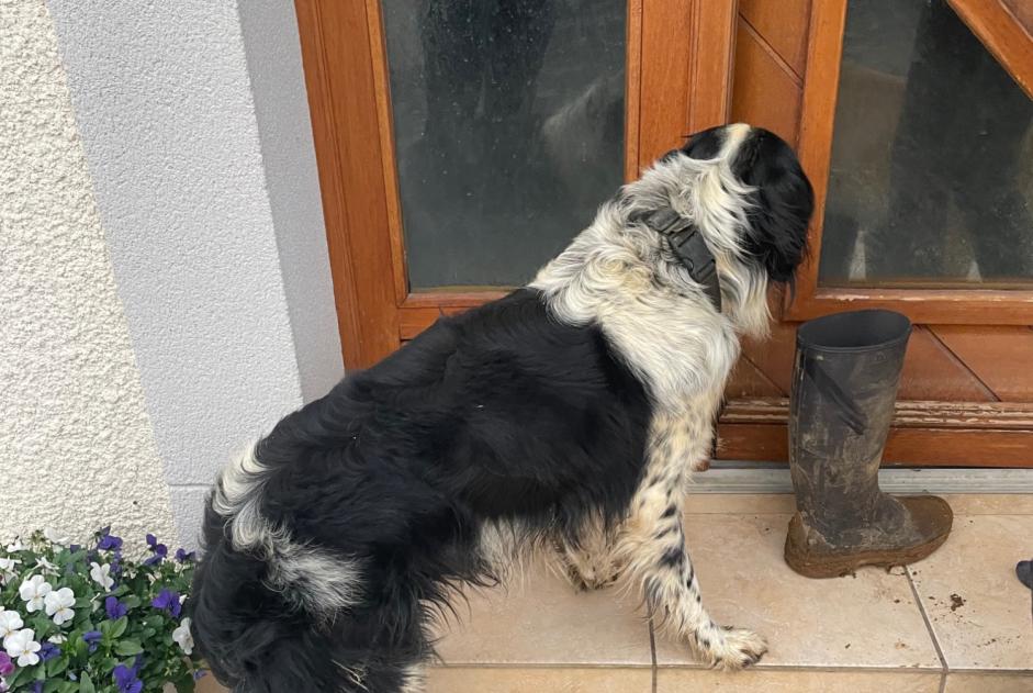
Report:
[{"label": "leftmost upright wooden door post, beside the grey wall", "polygon": [[382,268],[386,233],[382,125],[369,18],[361,2],[295,0],[312,134],[319,172],[334,299],[347,369],[398,346],[397,304]]}]

